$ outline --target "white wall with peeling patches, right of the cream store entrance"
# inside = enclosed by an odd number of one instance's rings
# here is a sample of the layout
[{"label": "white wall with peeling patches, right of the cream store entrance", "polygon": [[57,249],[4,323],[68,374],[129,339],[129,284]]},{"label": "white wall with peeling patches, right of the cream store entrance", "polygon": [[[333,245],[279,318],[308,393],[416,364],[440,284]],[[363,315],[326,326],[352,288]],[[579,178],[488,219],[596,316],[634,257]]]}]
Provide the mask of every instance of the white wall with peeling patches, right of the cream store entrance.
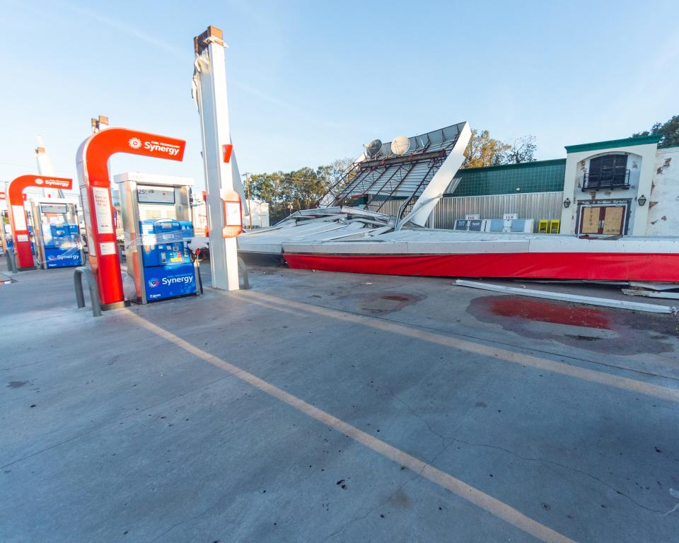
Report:
[{"label": "white wall with peeling patches, right of the cream store entrance", "polygon": [[679,236],[679,147],[658,149],[646,235]]}]

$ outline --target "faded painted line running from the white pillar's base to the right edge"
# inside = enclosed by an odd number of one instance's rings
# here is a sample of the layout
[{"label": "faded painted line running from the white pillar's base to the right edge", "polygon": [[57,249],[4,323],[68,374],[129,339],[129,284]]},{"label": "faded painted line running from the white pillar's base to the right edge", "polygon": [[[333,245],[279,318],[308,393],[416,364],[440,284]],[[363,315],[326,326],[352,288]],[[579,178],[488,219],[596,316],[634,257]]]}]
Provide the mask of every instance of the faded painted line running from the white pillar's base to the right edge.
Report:
[{"label": "faded painted line running from the white pillar's base to the right edge", "polygon": [[412,337],[414,339],[419,339],[420,341],[427,341],[429,343],[451,347],[452,349],[459,349],[460,351],[467,351],[480,356],[495,358],[496,360],[511,362],[521,366],[530,366],[552,373],[560,373],[561,375],[567,375],[568,377],[589,381],[591,383],[598,383],[600,385],[607,385],[609,387],[627,390],[628,392],[668,399],[671,402],[679,402],[679,389],[677,388],[663,387],[662,385],[654,385],[653,383],[620,377],[619,375],[612,375],[602,371],[571,366],[564,362],[548,360],[547,358],[540,358],[530,354],[516,353],[509,351],[508,349],[502,349],[501,347],[482,345],[474,343],[473,341],[402,325],[398,322],[356,315],[354,313],[347,313],[346,311],[336,309],[322,308],[318,305],[279,298],[278,296],[272,296],[261,292],[247,291],[241,296],[253,298],[254,300],[266,301],[274,305],[281,305],[287,310],[304,310],[313,315],[321,315],[323,317],[342,320],[344,322],[352,322],[353,324],[371,327],[373,329],[381,330],[382,332]]}]

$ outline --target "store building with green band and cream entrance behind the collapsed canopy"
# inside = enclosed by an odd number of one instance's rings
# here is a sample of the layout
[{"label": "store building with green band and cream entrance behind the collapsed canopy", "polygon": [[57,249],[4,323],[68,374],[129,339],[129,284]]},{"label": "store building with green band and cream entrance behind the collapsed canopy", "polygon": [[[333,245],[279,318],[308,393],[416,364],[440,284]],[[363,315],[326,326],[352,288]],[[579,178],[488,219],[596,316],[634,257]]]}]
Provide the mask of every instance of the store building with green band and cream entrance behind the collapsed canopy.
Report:
[{"label": "store building with green band and cream entrance behind the collapsed canopy", "polygon": [[[598,141],[567,146],[565,159],[459,170],[429,226],[516,214],[533,219],[535,231],[540,221],[559,221],[567,235],[677,236],[679,147],[658,148],[659,139]],[[385,213],[400,202],[388,204]]]}]

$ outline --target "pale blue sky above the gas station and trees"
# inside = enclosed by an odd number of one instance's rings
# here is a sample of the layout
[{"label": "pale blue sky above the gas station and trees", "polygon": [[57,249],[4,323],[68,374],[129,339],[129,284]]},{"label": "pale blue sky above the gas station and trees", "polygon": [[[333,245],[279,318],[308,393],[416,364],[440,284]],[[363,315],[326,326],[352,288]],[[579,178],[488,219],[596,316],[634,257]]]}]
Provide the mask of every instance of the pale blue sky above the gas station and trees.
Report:
[{"label": "pale blue sky above the gas station and trees", "polygon": [[[193,7],[192,7],[193,6]],[[0,182],[33,173],[42,134],[74,177],[90,118],[187,140],[183,163],[118,155],[112,173],[202,185],[192,38],[224,30],[241,172],[357,156],[468,120],[538,158],[679,114],[676,1],[0,0]]]}]

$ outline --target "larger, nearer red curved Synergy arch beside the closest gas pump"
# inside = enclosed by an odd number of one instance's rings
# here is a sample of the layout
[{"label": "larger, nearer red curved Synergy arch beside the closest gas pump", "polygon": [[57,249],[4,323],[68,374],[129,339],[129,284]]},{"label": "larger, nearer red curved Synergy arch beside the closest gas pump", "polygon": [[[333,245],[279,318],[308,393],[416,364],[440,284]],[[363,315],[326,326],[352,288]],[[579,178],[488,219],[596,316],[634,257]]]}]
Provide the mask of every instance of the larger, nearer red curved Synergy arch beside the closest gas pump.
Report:
[{"label": "larger, nearer red curved Synergy arch beside the closest gas pump", "polygon": [[115,239],[108,159],[115,153],[182,160],[186,141],[126,128],[108,128],[83,141],[76,163],[83,203],[90,266],[97,278],[102,309],[124,305]]}]

